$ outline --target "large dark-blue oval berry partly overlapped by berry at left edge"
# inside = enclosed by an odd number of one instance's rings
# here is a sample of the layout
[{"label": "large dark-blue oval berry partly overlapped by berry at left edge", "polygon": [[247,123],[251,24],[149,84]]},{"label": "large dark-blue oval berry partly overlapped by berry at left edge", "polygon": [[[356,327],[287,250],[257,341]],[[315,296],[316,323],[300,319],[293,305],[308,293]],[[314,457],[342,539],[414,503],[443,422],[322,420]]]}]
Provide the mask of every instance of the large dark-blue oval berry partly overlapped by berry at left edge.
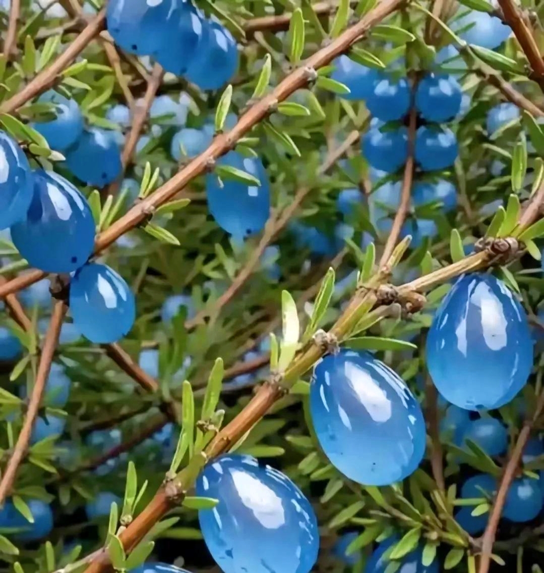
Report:
[{"label": "large dark-blue oval berry partly overlapped by berry at left edge", "polygon": [[70,273],[94,248],[94,219],[85,197],[53,171],[34,171],[34,191],[25,221],[11,227],[13,244],[31,266]]}]

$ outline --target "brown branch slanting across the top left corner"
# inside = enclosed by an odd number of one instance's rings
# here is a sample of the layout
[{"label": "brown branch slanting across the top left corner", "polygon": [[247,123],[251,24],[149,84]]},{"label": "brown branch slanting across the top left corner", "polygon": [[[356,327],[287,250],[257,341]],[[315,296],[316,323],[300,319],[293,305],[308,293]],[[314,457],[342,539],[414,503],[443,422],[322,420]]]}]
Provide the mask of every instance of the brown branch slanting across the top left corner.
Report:
[{"label": "brown branch slanting across the top left corner", "polygon": [[49,68],[38,73],[20,92],[15,93],[0,105],[0,113],[13,113],[33,97],[53,87],[58,75],[72,64],[89,42],[104,28],[104,22],[105,10],[102,9]]}]

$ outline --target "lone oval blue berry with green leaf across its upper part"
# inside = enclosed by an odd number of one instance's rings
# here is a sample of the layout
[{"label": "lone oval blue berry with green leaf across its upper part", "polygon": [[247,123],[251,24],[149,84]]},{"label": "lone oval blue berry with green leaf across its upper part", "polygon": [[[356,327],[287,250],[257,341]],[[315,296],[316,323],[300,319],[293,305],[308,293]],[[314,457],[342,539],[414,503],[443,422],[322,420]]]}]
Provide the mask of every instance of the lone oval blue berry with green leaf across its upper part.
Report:
[{"label": "lone oval blue berry with green leaf across its upper part", "polygon": [[231,179],[224,180],[221,187],[216,175],[207,175],[208,209],[217,224],[237,238],[248,237],[263,230],[270,214],[270,185],[261,160],[230,151],[218,163],[255,176],[260,186]]}]

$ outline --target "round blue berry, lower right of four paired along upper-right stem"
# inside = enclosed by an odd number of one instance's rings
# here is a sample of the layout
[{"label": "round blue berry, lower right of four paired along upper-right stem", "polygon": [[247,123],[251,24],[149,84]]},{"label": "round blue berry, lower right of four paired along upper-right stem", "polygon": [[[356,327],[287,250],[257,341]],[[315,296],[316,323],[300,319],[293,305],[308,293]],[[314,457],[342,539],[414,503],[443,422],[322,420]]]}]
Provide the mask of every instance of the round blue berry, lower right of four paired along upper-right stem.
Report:
[{"label": "round blue berry, lower right of four paired along upper-right stem", "polygon": [[451,129],[423,126],[416,132],[414,157],[423,171],[450,167],[458,154],[457,138]]}]

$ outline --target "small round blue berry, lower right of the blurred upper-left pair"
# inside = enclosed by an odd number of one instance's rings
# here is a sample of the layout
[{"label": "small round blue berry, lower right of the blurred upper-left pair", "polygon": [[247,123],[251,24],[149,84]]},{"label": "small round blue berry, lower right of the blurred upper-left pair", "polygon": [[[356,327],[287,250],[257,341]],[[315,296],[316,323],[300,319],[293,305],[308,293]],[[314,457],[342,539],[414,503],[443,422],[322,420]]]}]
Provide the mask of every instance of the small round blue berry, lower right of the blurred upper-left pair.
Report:
[{"label": "small round blue berry, lower right of the blurred upper-left pair", "polygon": [[122,171],[115,133],[97,128],[84,131],[66,152],[66,167],[87,185],[102,187],[112,183]]}]

